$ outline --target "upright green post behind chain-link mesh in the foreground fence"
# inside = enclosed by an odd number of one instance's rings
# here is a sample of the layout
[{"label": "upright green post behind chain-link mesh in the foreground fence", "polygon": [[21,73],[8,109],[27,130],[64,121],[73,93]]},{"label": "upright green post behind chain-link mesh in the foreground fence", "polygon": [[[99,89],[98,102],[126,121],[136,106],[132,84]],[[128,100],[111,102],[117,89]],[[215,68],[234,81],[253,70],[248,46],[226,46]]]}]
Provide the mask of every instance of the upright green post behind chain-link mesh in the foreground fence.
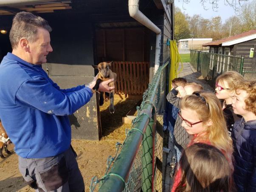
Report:
[{"label": "upright green post behind chain-link mesh in the foreground fence", "polygon": [[142,141],[142,191],[152,192],[153,176],[153,126],[154,120],[151,118],[146,128]]}]

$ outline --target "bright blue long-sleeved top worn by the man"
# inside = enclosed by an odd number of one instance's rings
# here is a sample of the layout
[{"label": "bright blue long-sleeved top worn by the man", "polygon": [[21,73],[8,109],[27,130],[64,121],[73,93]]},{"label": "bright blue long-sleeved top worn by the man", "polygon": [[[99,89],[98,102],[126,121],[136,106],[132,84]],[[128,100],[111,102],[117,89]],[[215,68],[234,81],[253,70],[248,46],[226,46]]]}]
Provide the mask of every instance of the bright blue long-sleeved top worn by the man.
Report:
[{"label": "bright blue long-sleeved top worn by the man", "polygon": [[0,64],[0,117],[23,158],[55,156],[70,147],[68,116],[90,101],[90,88],[60,89],[41,65],[8,53]]}]

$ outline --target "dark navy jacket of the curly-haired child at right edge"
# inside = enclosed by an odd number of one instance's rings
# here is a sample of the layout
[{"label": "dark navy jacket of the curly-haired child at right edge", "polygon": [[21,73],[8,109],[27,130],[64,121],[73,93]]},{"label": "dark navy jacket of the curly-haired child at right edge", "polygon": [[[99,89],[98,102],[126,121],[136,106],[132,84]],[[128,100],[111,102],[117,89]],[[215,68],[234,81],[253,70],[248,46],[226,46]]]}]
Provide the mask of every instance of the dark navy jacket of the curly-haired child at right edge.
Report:
[{"label": "dark navy jacket of the curly-haired child at right edge", "polygon": [[256,192],[256,120],[236,121],[234,143],[234,181],[238,192]]}]

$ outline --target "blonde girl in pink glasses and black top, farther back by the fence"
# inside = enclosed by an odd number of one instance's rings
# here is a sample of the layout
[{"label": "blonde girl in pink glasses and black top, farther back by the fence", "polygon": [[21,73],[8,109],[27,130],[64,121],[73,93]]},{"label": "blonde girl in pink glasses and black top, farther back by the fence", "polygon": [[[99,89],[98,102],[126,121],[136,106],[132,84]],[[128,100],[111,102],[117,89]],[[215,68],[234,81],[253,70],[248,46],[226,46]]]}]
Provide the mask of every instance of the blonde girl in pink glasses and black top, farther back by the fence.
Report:
[{"label": "blonde girl in pink glasses and black top, farther back by the fence", "polygon": [[241,119],[240,116],[234,114],[231,106],[231,96],[234,90],[233,82],[241,80],[244,80],[244,77],[236,71],[226,71],[225,73],[219,75],[216,79],[215,95],[221,101],[229,134],[231,134],[234,122]]}]

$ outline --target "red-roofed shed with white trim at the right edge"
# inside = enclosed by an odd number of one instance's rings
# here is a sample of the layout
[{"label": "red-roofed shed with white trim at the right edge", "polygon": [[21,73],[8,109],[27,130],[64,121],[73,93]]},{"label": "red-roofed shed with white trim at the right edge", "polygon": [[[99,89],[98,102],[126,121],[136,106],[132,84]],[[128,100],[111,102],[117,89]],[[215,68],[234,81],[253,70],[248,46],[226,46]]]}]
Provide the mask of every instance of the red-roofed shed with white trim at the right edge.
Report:
[{"label": "red-roofed shed with white trim at the right edge", "polygon": [[256,71],[256,29],[203,44],[211,53],[245,56],[244,69]]}]

